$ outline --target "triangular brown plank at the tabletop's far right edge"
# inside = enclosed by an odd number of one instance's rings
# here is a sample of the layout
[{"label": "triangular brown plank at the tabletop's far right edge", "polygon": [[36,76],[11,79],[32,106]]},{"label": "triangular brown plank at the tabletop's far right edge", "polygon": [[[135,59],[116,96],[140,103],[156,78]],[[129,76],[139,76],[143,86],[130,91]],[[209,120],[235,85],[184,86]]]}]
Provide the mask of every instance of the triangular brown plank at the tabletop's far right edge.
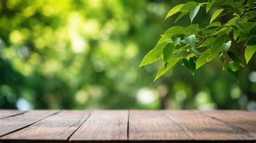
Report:
[{"label": "triangular brown plank at the tabletop's far right edge", "polygon": [[206,115],[230,126],[235,126],[256,137],[256,112],[253,111],[204,111]]}]

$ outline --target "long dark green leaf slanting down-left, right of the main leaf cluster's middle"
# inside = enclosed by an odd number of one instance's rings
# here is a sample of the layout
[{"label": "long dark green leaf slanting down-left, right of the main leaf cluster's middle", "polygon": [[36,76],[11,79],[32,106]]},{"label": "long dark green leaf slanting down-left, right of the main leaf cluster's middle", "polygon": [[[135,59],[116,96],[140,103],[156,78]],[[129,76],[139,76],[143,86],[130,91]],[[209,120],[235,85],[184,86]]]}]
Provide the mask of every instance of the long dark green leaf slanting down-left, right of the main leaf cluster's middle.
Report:
[{"label": "long dark green leaf slanting down-left, right of the main leaf cluster's middle", "polygon": [[224,35],[220,35],[218,36],[212,43],[212,46],[210,48],[210,52],[209,55],[207,57],[207,62],[210,62],[212,59],[214,59],[217,54],[220,51],[221,46],[223,45],[223,43],[225,43],[225,41],[228,38],[228,34],[224,34]]}]

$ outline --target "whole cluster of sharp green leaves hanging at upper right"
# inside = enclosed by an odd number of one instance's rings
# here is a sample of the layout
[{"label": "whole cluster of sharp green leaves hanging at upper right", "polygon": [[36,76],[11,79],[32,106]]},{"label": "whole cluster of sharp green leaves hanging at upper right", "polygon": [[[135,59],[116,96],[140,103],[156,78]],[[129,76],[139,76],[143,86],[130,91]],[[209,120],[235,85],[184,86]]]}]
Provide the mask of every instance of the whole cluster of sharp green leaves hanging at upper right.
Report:
[{"label": "whole cluster of sharp green leaves hanging at upper right", "polygon": [[[200,8],[206,8],[207,13],[211,8],[213,9],[214,3],[215,0],[208,0],[207,3],[179,4],[167,13],[166,18],[179,13],[175,21],[177,22],[189,13],[192,23]],[[223,70],[227,70],[239,81],[240,68],[244,67],[243,60],[245,59],[247,64],[256,51],[255,3],[255,0],[247,2],[245,0],[226,0],[221,6],[225,5],[230,8],[214,8],[216,10],[205,28],[200,28],[198,24],[191,24],[187,27],[171,27],[164,32],[157,45],[146,54],[140,66],[163,59],[164,64],[158,71],[154,79],[156,80],[181,60],[194,76],[199,67],[211,62],[215,57],[219,57],[223,62]],[[228,19],[226,23],[216,21],[230,12],[233,12],[233,18]],[[241,43],[245,44],[241,47],[239,46]],[[231,50],[231,46],[235,48]],[[238,48],[245,49],[245,58],[238,56]]]}]

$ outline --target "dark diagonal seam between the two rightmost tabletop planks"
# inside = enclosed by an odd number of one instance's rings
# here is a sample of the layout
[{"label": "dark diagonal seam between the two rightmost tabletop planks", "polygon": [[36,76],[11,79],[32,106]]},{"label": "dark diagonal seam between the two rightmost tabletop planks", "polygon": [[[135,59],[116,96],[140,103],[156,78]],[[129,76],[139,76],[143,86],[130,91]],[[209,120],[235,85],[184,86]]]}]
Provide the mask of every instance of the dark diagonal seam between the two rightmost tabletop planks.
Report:
[{"label": "dark diagonal seam between the two rightmost tabletop planks", "polygon": [[211,115],[208,115],[208,114],[206,114],[206,113],[204,113],[204,112],[200,112],[200,111],[198,111],[198,112],[199,112],[200,114],[202,114],[202,115],[203,115],[204,117],[206,117],[206,118],[213,119],[213,120],[215,120],[215,121],[220,122],[221,124],[224,124],[225,126],[228,126],[228,127],[233,128],[234,130],[237,130],[238,133],[240,133],[240,134],[242,134],[242,135],[246,135],[246,136],[249,137],[249,138],[254,137],[249,131],[247,131],[247,130],[245,130],[245,129],[243,129],[243,128],[234,126],[233,124],[230,124],[230,123],[228,123],[228,122],[226,122],[226,121],[224,121],[224,120],[221,120],[221,119],[219,119],[219,118],[216,118],[216,117],[213,117],[213,116],[211,116]]}]

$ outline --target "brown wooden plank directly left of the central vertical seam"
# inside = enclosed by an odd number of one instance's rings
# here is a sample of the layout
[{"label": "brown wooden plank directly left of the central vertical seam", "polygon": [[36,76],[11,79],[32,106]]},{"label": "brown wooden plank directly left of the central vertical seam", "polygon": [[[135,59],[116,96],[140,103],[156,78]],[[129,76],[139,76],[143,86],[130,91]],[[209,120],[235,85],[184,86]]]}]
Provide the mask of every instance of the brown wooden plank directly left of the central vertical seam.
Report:
[{"label": "brown wooden plank directly left of the central vertical seam", "polygon": [[70,142],[126,142],[127,110],[97,110],[71,136]]}]

